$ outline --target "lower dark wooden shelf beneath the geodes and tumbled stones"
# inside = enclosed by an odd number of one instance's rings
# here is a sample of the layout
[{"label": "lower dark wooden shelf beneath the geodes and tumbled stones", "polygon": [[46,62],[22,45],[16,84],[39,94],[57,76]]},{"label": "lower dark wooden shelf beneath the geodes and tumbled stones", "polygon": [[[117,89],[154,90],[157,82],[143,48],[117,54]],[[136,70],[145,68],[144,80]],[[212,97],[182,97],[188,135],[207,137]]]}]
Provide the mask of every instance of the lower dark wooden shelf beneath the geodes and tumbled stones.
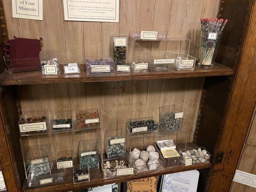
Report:
[{"label": "lower dark wooden shelf beneath the geodes and tumbled stones", "polygon": [[[177,172],[182,172],[182,171],[210,168],[210,167],[211,167],[211,163],[191,165],[191,166],[186,166],[186,167],[180,165],[179,167],[176,167],[176,168],[167,168],[166,167],[164,170],[151,171],[151,172],[145,172],[145,173],[128,175],[128,176],[123,176],[123,177],[110,178],[110,179],[103,179],[101,171],[99,169],[96,169],[95,171],[93,171],[94,175],[92,177],[95,177],[97,179],[91,179],[88,182],[73,184],[73,178],[71,177],[71,175],[68,174],[69,178],[66,178],[64,183],[60,182],[59,184],[56,184],[56,185],[50,185],[50,186],[45,186],[45,187],[42,186],[40,188],[36,188],[36,187],[28,188],[27,184],[24,183],[23,191],[24,192],[62,192],[62,191],[64,192],[64,191],[85,189],[88,187],[107,185],[107,184],[111,184],[111,183],[119,183],[119,182],[124,182],[127,180],[135,180],[135,179],[141,179],[141,178],[146,178],[146,177],[165,175],[165,174],[169,174],[169,173],[177,173]],[[91,172],[90,172],[90,174],[91,174]]]}]

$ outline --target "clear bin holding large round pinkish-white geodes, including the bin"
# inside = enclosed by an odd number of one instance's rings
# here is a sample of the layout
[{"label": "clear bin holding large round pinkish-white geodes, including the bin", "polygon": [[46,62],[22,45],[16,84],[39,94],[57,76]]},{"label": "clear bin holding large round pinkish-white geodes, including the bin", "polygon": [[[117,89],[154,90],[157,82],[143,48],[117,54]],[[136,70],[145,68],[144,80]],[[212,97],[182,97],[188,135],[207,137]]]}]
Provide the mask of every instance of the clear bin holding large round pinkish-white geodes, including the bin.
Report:
[{"label": "clear bin holding large round pinkish-white geodes, including the bin", "polygon": [[135,173],[162,170],[165,167],[165,160],[155,144],[133,147],[129,157]]}]

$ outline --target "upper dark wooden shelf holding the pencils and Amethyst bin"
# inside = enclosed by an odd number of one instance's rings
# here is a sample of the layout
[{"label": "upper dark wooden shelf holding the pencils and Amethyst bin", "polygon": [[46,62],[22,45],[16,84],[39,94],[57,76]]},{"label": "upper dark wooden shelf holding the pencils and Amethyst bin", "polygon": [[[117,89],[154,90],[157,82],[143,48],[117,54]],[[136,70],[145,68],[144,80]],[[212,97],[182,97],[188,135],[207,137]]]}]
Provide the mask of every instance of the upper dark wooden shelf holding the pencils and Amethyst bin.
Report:
[{"label": "upper dark wooden shelf holding the pencils and Amethyst bin", "polygon": [[[63,72],[60,66],[61,73]],[[169,71],[169,72],[149,72],[149,73],[113,73],[101,76],[87,76],[85,65],[82,65],[80,74],[60,74],[42,75],[36,72],[17,72],[0,74],[0,85],[15,84],[55,84],[55,83],[75,83],[75,82],[105,82],[105,81],[128,81],[128,80],[150,80],[150,79],[171,79],[187,77],[207,77],[234,75],[234,70],[226,66],[215,64],[212,69],[204,69],[195,66],[193,71]]]}]

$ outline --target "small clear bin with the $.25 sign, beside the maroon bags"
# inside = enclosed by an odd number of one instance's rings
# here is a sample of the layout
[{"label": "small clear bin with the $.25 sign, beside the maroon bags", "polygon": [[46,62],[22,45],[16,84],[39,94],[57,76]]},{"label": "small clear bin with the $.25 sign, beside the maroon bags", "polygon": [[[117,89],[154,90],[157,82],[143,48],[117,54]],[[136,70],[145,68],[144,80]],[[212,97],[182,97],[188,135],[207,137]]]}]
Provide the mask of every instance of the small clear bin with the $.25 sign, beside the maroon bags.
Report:
[{"label": "small clear bin with the $.25 sign, beside the maroon bags", "polygon": [[58,53],[56,51],[41,52],[40,62],[43,75],[60,74]]}]

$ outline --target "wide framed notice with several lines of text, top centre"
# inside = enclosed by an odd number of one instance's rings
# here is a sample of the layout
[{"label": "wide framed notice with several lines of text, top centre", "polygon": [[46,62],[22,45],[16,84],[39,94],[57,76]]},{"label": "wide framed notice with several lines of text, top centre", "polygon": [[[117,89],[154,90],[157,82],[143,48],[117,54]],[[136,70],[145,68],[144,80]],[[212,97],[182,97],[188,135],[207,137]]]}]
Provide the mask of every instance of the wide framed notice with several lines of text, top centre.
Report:
[{"label": "wide framed notice with several lines of text, top centre", "polygon": [[63,0],[65,20],[119,22],[119,0]]}]

